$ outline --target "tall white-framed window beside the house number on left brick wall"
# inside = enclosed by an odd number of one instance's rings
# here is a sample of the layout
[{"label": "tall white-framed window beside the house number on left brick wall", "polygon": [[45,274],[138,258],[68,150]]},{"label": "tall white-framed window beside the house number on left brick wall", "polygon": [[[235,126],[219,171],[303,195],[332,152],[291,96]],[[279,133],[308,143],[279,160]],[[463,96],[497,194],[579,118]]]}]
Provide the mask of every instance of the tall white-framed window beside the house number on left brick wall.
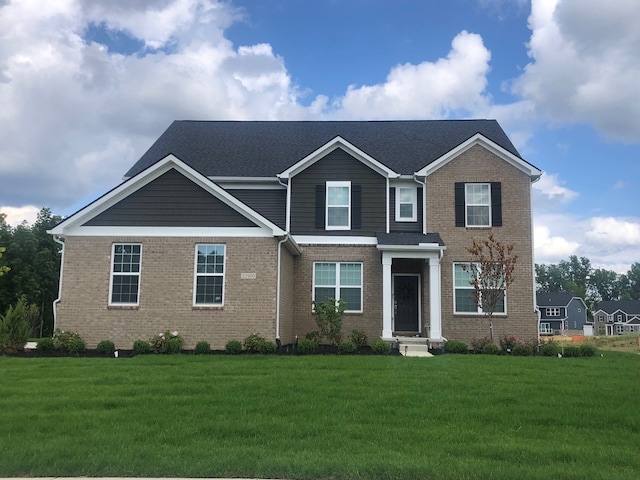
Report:
[{"label": "tall white-framed window beside the house number on left brick wall", "polygon": [[196,245],[194,305],[224,305],[225,245]]}]

